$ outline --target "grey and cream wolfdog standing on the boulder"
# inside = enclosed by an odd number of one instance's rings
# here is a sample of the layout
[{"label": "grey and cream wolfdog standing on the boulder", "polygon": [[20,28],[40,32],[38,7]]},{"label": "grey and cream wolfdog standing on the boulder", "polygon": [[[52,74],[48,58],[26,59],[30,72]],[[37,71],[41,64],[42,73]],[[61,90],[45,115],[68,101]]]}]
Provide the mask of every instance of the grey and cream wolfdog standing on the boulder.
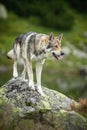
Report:
[{"label": "grey and cream wolfdog standing on the boulder", "polygon": [[28,32],[16,37],[13,48],[7,53],[8,58],[14,60],[13,77],[18,77],[17,64],[20,59],[24,62],[22,77],[25,79],[27,72],[29,87],[35,90],[34,78],[32,70],[32,61],[36,61],[36,80],[37,90],[44,96],[41,88],[41,72],[43,63],[50,57],[55,57],[57,60],[63,57],[64,52],[61,49],[61,40],[63,34],[54,37],[50,35]]}]

